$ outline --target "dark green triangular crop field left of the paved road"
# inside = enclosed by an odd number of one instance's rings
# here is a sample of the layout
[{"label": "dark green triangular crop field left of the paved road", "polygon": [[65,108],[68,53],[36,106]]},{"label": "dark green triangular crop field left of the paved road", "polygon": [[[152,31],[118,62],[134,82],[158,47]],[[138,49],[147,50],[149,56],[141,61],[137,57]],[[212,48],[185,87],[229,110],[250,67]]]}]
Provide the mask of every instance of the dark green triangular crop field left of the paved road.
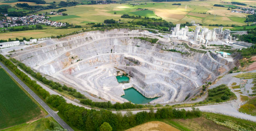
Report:
[{"label": "dark green triangular crop field left of the paved road", "polygon": [[22,124],[41,115],[41,109],[0,69],[0,129]]}]

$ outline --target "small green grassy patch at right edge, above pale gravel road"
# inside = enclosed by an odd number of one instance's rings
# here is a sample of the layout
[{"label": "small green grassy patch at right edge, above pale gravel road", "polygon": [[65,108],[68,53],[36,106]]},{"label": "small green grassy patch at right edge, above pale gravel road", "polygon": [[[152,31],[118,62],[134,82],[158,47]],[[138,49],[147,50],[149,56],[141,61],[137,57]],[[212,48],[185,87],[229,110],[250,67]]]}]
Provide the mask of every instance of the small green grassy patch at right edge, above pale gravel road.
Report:
[{"label": "small green grassy patch at right edge, above pale gravel road", "polygon": [[239,111],[256,116],[256,97],[249,99],[246,104],[239,108]]}]

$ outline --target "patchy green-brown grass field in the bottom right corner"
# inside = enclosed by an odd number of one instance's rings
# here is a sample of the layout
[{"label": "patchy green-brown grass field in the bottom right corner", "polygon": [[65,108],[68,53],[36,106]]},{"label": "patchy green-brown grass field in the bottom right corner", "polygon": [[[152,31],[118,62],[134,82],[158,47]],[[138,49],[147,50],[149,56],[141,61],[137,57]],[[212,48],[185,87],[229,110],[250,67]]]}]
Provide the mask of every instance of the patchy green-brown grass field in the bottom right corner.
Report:
[{"label": "patchy green-brown grass field in the bottom right corner", "polygon": [[199,118],[161,120],[181,131],[255,131],[255,122],[203,112]]}]

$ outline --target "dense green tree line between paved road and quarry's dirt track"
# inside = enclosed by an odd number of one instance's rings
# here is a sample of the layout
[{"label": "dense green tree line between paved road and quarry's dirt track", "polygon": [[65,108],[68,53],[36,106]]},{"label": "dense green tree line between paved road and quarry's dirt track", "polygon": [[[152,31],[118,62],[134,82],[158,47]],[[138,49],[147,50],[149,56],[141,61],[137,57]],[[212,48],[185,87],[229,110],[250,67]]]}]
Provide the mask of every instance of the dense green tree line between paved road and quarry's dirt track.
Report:
[{"label": "dense green tree line between paved road and quarry's dirt track", "polygon": [[156,113],[151,109],[149,112],[142,111],[137,114],[132,114],[131,111],[127,111],[124,116],[120,112],[114,114],[105,109],[100,111],[85,109],[84,107],[68,104],[62,96],[50,95],[48,91],[36,84],[35,80],[31,80],[25,73],[21,72],[3,55],[0,55],[0,61],[8,68],[12,69],[23,81],[29,84],[30,87],[36,89],[37,94],[42,96],[46,103],[58,109],[63,119],[66,120],[69,125],[84,131],[99,131],[100,126],[104,122],[109,123],[114,131],[122,131],[151,120],[186,119],[200,117],[202,115],[202,112],[195,108],[192,108],[192,111],[162,108],[157,109]]}]

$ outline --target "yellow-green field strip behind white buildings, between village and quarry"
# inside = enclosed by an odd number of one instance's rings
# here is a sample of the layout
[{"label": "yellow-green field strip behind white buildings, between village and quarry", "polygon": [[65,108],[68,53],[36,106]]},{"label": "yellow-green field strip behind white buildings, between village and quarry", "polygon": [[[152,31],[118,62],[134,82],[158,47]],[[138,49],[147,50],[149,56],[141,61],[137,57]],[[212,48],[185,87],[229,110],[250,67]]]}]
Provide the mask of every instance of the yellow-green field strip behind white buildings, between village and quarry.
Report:
[{"label": "yellow-green field strip behind white buildings, between village and quarry", "polygon": [[82,30],[82,28],[26,30],[26,31],[17,31],[17,32],[5,32],[5,33],[0,33],[0,40],[8,40],[9,38],[15,39],[16,37],[19,39],[22,39],[23,37],[43,38],[43,37],[51,37],[51,36],[69,34],[69,33],[77,32],[80,30]]}]

